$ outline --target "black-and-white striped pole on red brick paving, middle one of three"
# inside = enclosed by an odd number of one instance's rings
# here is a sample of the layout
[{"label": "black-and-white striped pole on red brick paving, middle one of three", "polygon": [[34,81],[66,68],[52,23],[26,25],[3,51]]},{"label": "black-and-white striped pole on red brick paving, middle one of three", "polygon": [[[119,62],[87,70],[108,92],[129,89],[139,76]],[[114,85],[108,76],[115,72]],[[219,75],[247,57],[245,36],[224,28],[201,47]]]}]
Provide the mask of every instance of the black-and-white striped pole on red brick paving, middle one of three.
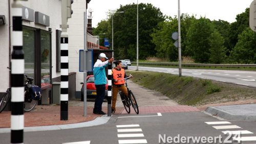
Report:
[{"label": "black-and-white striped pole on red brick paving, middle one of three", "polygon": [[67,33],[60,37],[60,120],[68,120],[69,104],[69,50]]}]

